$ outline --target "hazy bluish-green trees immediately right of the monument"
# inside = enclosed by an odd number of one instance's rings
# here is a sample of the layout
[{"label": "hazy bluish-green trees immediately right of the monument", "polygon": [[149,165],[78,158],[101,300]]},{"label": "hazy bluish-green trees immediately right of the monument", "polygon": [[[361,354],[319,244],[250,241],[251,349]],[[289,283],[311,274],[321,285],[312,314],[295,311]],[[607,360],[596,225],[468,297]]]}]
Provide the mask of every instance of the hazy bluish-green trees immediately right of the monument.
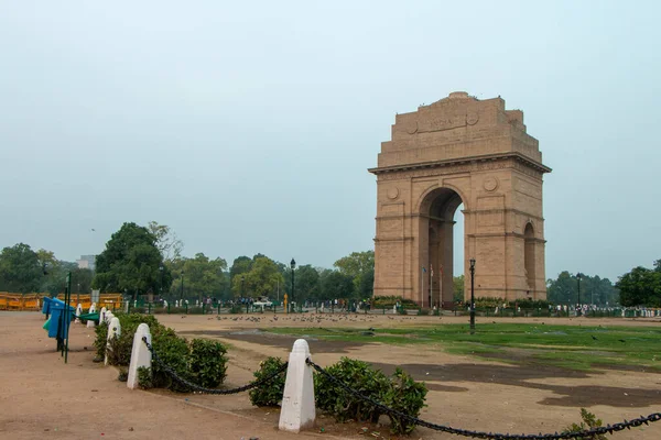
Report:
[{"label": "hazy bluish-green trees immediately right of the monument", "polygon": [[567,271],[561,272],[556,279],[546,280],[546,299],[552,304],[575,305],[595,304],[609,306],[619,302],[619,293],[610,279],[598,275],[581,274],[581,300],[578,299],[578,278]]}]

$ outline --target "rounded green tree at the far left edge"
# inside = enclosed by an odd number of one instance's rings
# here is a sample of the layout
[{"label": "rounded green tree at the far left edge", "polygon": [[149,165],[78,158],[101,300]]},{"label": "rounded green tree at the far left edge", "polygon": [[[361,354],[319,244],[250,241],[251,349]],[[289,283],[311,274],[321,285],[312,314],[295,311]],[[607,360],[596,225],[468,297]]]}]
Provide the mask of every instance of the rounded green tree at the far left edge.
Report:
[{"label": "rounded green tree at the far left edge", "polygon": [[41,286],[44,268],[28,244],[18,243],[0,252],[0,289],[26,294]]}]

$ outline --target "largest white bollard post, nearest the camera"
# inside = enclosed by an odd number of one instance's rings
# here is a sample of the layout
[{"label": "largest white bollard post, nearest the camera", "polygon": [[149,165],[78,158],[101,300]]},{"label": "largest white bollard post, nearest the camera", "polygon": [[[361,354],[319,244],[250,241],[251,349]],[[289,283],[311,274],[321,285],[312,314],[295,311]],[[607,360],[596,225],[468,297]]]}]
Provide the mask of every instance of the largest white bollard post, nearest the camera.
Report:
[{"label": "largest white bollard post, nearest the camera", "polygon": [[307,341],[297,339],[290,353],[286,380],[282,395],[279,428],[282,431],[299,432],[312,428],[315,419],[314,382],[312,366],[305,363],[310,358]]}]

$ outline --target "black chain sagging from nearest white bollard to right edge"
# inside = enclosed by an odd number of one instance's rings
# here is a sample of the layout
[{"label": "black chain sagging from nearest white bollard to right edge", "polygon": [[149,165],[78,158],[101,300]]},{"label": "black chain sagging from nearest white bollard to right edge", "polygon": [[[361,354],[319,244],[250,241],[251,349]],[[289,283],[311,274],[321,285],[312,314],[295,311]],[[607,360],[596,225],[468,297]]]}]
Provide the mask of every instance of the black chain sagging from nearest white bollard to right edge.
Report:
[{"label": "black chain sagging from nearest white bollard to right edge", "polygon": [[365,400],[365,402],[373,405],[375,407],[382,410],[384,414],[394,416],[399,419],[407,420],[408,422],[411,422],[411,424],[414,424],[414,425],[418,425],[421,427],[433,429],[435,431],[448,432],[448,433],[454,433],[457,436],[472,437],[472,438],[476,438],[476,439],[492,439],[492,440],[563,440],[563,439],[581,440],[581,439],[592,439],[592,438],[596,438],[596,436],[599,436],[599,435],[614,433],[614,432],[622,431],[625,429],[631,429],[632,427],[649,425],[650,422],[661,420],[661,413],[652,413],[647,417],[640,416],[640,418],[637,418],[633,420],[625,420],[622,422],[615,424],[615,425],[607,425],[605,427],[597,427],[597,428],[586,429],[586,430],[582,430],[582,431],[571,431],[571,432],[562,432],[562,433],[557,433],[557,432],[541,433],[540,432],[539,435],[525,435],[525,433],[516,435],[516,433],[494,433],[494,432],[484,432],[484,431],[470,431],[467,429],[458,429],[458,428],[453,428],[449,426],[432,424],[431,421],[421,420],[416,417],[409,416],[408,414],[398,411],[397,409],[389,408],[386,405],[381,404],[380,402],[372,399],[371,397],[361,395],[359,392],[357,392],[354,388],[351,388],[350,386],[346,385],[344,382],[342,382],[337,377],[333,376],[330,373],[326,372],[323,367],[321,367],[319,365],[312,362],[311,359],[307,359],[305,361],[305,363],[311,365],[314,370],[316,370],[323,376],[327,377],[330,382],[338,385],[345,392],[351,394],[355,397],[358,397],[361,400]]}]

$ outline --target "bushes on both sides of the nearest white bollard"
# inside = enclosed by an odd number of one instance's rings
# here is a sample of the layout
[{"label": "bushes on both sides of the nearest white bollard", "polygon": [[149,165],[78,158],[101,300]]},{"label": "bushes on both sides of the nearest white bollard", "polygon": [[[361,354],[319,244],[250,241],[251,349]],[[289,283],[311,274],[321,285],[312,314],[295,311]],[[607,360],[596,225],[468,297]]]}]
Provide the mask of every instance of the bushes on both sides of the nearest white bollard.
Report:
[{"label": "bushes on both sides of the nearest white bollard", "polygon": [[[254,377],[261,380],[273,374],[283,365],[280,358],[269,358],[260,364]],[[418,417],[424,407],[426,386],[415,382],[399,367],[391,376],[370,364],[348,358],[330,365],[326,371],[360,394],[397,409],[408,416]],[[253,388],[250,402],[256,406],[278,406],[284,392],[285,373],[277,380]],[[337,421],[370,421],[376,424],[383,415],[380,408],[345,392],[322,374],[314,374],[316,407],[332,415]],[[415,426],[397,416],[388,415],[393,433],[410,433]]]}]

